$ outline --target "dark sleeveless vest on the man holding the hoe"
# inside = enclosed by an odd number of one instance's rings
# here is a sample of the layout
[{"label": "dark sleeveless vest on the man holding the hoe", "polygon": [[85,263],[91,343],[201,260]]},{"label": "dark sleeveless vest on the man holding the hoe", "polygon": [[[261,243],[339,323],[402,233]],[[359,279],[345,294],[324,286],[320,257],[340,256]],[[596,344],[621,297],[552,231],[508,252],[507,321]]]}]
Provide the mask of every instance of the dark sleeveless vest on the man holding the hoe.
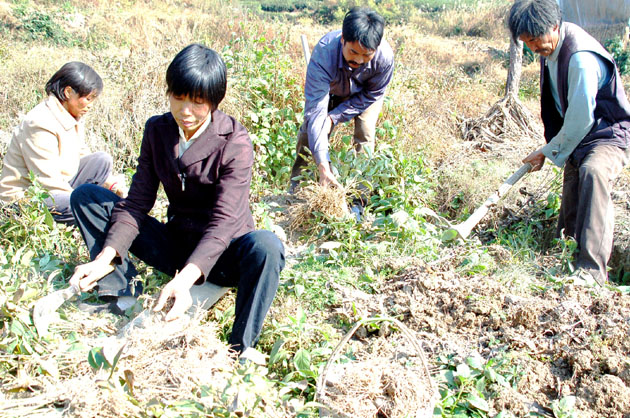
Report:
[{"label": "dark sleeveless vest on the man holding the hoe", "polygon": [[[623,90],[621,77],[612,56],[586,33],[584,29],[573,23],[564,22],[564,41],[558,54],[558,96],[562,113],[566,114],[568,106],[569,60],[578,51],[590,51],[599,55],[608,65],[610,80],[597,92],[595,98],[595,123],[590,132],[582,139],[571,154],[572,162],[581,164],[582,160],[595,145],[615,145],[626,149],[630,142],[630,104]],[[551,95],[551,86],[545,58],[540,59],[540,103],[541,116],[545,127],[547,142],[558,134],[564,119],[556,109]]]}]

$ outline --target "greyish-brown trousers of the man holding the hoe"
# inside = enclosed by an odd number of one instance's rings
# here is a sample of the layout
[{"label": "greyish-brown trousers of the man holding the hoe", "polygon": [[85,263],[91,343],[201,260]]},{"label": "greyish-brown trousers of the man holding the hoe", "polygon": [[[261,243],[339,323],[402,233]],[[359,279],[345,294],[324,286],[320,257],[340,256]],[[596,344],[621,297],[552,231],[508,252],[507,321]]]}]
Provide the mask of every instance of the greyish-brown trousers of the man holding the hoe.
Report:
[{"label": "greyish-brown trousers of the man holding the hoe", "polygon": [[598,145],[579,166],[567,161],[564,167],[562,204],[558,235],[574,237],[578,243],[576,268],[583,268],[596,280],[608,277],[606,264],[613,245],[614,206],[612,183],[630,158],[630,149]]}]

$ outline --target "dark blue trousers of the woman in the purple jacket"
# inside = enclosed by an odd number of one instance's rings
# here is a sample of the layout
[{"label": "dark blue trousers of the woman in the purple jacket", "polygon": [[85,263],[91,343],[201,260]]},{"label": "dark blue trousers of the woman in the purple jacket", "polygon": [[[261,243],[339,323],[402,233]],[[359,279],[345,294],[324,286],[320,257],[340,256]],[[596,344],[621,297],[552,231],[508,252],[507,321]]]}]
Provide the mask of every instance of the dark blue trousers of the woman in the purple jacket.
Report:
[{"label": "dark blue trousers of the woman in the purple jacket", "polygon": [[[119,200],[115,193],[94,185],[83,185],[72,192],[72,212],[92,259],[102,250],[112,210]],[[195,246],[196,242],[174,237],[165,224],[147,216],[129,251],[146,264],[174,276],[185,267]],[[273,232],[259,230],[233,239],[208,274],[206,280],[218,286],[237,288],[229,339],[235,350],[243,351],[256,344],[283,268],[282,242]],[[133,285],[136,274],[127,255],[121,255],[121,264],[98,282],[99,296],[134,294],[138,290]]]}]

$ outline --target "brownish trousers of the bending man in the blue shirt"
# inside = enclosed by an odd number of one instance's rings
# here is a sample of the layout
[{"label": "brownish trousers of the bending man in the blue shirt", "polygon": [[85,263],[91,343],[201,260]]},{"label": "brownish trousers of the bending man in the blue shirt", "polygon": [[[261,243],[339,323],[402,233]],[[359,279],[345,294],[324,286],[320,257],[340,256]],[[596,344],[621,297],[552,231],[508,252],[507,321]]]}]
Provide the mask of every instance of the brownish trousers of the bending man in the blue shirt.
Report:
[{"label": "brownish trousers of the bending man in the blue shirt", "polygon": [[[344,101],[345,99],[338,99],[336,101],[331,99],[330,103],[333,106],[332,109]],[[363,151],[364,148],[369,148],[371,151],[374,151],[376,121],[378,120],[378,115],[381,113],[382,108],[383,99],[380,99],[372,103],[363,113],[354,118],[354,138],[352,142],[357,152]],[[329,109],[329,111],[332,109]],[[295,162],[291,169],[291,179],[302,173],[302,169],[307,164],[305,157],[308,154],[310,154],[308,148],[308,133],[306,131],[306,124],[303,123],[298,132],[298,141],[295,148]]]}]

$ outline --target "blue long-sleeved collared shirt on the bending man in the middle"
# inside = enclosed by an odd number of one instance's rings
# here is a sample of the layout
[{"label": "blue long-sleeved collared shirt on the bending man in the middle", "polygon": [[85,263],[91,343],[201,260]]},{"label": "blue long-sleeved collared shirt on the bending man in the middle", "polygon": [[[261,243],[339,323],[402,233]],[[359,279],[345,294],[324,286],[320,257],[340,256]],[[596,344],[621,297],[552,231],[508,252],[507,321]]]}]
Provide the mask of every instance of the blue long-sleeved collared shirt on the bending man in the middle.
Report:
[{"label": "blue long-sleeved collared shirt on the bending man in the middle", "polygon": [[[351,68],[343,58],[341,30],[330,32],[319,40],[306,70],[304,85],[304,123],[308,145],[315,162],[329,161],[326,117],[333,124],[347,122],[360,115],[385,95],[394,73],[394,52],[384,39],[374,57],[359,68]],[[330,95],[349,97],[328,112]]]}]

